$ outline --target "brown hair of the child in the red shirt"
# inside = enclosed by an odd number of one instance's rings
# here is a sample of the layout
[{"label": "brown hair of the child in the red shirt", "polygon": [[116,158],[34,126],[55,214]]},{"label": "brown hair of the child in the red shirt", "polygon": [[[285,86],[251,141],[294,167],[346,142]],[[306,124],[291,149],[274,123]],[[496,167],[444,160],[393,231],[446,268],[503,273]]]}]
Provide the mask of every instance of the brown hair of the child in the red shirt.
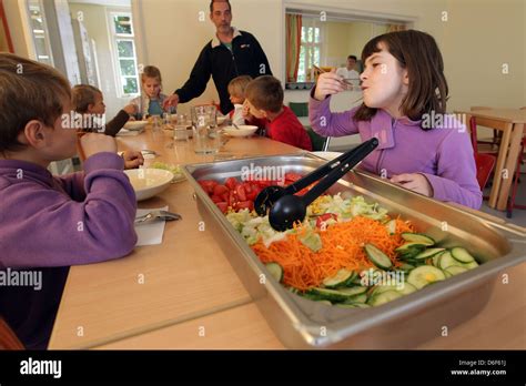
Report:
[{"label": "brown hair of the child in the red shirt", "polygon": [[263,75],[250,82],[245,96],[257,110],[276,113],[283,108],[283,88],[280,80],[272,75]]}]

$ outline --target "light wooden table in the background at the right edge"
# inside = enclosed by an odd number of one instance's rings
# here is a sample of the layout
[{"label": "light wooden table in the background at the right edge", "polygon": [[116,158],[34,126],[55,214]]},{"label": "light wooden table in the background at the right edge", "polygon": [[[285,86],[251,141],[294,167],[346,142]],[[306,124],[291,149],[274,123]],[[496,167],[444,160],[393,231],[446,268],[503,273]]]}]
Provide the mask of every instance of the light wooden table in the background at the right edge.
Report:
[{"label": "light wooden table in the background at the right edge", "polygon": [[472,116],[475,116],[477,125],[503,132],[488,205],[505,211],[515,167],[517,166],[517,158],[520,152],[520,141],[526,124],[526,110],[490,109],[456,111],[455,113],[465,114],[466,124],[469,123]]}]

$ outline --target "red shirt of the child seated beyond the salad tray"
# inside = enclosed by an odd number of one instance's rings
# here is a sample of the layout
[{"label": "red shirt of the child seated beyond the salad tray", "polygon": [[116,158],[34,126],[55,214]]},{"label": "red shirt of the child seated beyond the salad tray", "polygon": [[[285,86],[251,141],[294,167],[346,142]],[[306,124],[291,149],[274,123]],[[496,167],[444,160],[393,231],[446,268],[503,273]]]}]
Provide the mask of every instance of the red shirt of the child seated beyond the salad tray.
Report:
[{"label": "red shirt of the child seated beyond the salad tray", "polygon": [[269,122],[266,128],[271,140],[287,143],[303,150],[312,150],[311,138],[297,116],[287,106],[283,106],[283,112],[272,122]]}]

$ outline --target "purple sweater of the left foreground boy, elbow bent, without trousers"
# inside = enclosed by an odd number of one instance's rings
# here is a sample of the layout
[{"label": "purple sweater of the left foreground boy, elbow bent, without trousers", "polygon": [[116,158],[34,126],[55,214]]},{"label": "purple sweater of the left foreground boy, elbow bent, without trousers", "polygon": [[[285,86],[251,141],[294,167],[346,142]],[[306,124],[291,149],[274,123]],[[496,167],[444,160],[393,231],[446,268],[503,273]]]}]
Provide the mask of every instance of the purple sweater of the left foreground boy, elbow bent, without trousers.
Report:
[{"label": "purple sweater of the left foreground boy, elbow bent, without trousers", "polygon": [[[122,167],[117,154],[90,156],[84,162],[83,202],[37,184],[13,194],[17,201],[11,205],[30,203],[26,212],[31,213],[20,214],[16,225],[4,230],[11,243],[3,245],[2,264],[13,268],[90,264],[133,251],[136,202]],[[62,179],[64,187],[78,191],[79,175]]]}]

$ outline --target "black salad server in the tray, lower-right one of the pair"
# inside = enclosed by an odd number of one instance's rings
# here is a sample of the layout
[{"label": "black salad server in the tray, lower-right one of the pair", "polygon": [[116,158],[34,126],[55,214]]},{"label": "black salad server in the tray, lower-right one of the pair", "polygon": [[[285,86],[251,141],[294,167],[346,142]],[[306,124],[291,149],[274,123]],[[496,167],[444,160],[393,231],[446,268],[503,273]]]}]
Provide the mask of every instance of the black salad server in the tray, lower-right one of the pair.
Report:
[{"label": "black salad server in the tray, lower-right one of the pair", "polygon": [[355,152],[351,156],[342,162],[335,170],[331,171],[326,177],[305,193],[305,195],[297,196],[287,194],[277,200],[269,213],[271,226],[275,231],[283,232],[293,227],[294,223],[302,222],[305,219],[306,207],[350,170],[356,166],[376,149],[377,145],[378,140],[376,138],[362,143],[355,149]]}]

